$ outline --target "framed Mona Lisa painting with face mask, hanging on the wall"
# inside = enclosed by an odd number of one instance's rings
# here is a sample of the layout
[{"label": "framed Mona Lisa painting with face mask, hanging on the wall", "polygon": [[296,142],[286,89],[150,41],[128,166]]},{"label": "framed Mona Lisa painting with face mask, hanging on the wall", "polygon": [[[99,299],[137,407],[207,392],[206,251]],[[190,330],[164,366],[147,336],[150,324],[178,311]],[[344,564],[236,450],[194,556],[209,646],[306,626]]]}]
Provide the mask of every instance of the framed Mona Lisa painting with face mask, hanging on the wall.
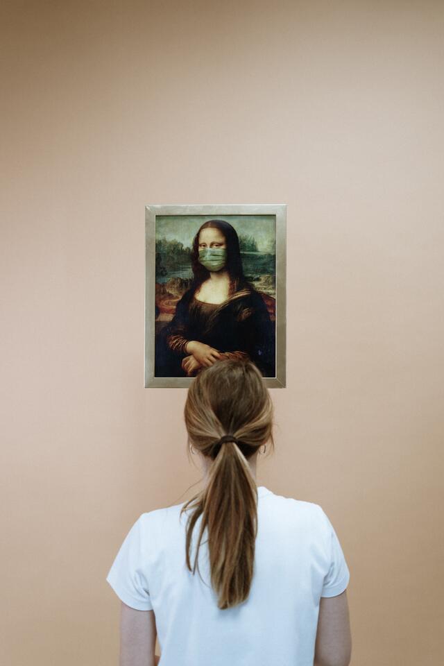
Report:
[{"label": "framed Mona Lisa painting with face mask, hanging on the wall", "polygon": [[285,386],[284,204],[146,206],[145,387],[224,359]]}]

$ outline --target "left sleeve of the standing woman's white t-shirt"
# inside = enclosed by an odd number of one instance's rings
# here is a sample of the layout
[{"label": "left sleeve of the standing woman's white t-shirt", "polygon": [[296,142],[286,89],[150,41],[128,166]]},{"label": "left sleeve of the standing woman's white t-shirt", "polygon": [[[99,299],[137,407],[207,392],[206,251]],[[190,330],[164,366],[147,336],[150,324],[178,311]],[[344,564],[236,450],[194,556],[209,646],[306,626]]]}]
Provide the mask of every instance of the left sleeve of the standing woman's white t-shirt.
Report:
[{"label": "left sleeve of the standing woman's white t-shirt", "polygon": [[137,610],[153,610],[148,590],[142,516],[137,518],[117,553],[106,580],[127,606]]}]

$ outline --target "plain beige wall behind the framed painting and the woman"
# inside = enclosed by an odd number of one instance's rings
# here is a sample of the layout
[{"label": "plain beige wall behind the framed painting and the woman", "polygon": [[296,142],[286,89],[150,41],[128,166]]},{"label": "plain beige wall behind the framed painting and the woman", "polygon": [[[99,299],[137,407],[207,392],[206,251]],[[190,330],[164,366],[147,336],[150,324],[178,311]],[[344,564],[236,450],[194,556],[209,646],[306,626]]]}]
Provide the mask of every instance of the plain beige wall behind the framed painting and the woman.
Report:
[{"label": "plain beige wall behind the framed painting and the woman", "polygon": [[334,523],[353,666],[442,663],[443,3],[1,15],[2,663],[117,663],[112,560],[199,479],[143,388],[147,203],[287,203],[258,481]]}]

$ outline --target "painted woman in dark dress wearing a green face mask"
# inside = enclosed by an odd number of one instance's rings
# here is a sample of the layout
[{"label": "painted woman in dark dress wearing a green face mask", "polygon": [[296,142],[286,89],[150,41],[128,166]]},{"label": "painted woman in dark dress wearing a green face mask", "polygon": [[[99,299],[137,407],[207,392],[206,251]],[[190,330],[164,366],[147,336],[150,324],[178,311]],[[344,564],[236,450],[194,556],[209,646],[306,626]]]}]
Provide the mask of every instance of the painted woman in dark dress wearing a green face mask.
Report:
[{"label": "painted woman in dark dress wearing a green face mask", "polygon": [[156,377],[193,377],[216,360],[253,361],[275,376],[275,330],[261,294],[246,280],[236,230],[200,226],[191,250],[194,278],[155,341]]}]

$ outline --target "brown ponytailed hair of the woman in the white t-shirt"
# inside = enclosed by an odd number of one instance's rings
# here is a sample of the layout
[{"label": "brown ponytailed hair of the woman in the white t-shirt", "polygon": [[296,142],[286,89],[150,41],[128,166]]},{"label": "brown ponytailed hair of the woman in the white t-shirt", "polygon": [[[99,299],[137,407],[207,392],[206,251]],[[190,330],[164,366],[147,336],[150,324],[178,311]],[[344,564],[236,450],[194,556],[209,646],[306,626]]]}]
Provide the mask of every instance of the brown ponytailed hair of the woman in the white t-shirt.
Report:
[{"label": "brown ponytailed hair of the woman in the white t-shirt", "polygon": [[[194,526],[200,531],[192,572],[196,571],[205,528],[211,583],[218,607],[230,608],[248,598],[253,579],[257,536],[257,486],[248,459],[273,441],[273,402],[257,366],[249,360],[215,361],[198,373],[185,402],[188,445],[212,460],[205,488],[185,502],[189,511],[186,557]],[[239,444],[225,441],[234,435]]]}]

